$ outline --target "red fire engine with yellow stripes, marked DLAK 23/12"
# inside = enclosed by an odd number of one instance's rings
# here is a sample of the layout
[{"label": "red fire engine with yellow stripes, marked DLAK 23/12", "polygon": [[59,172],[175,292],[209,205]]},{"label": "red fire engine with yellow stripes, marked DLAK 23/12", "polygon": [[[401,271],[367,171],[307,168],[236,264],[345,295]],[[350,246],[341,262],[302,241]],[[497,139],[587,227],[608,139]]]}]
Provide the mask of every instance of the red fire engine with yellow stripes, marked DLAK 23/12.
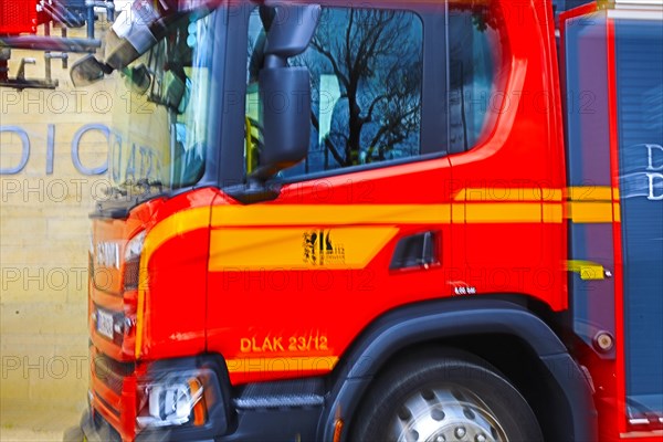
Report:
[{"label": "red fire engine with yellow stripes, marked DLAK 23/12", "polygon": [[85,438],[661,440],[663,4],[565,3],[137,0]]}]

